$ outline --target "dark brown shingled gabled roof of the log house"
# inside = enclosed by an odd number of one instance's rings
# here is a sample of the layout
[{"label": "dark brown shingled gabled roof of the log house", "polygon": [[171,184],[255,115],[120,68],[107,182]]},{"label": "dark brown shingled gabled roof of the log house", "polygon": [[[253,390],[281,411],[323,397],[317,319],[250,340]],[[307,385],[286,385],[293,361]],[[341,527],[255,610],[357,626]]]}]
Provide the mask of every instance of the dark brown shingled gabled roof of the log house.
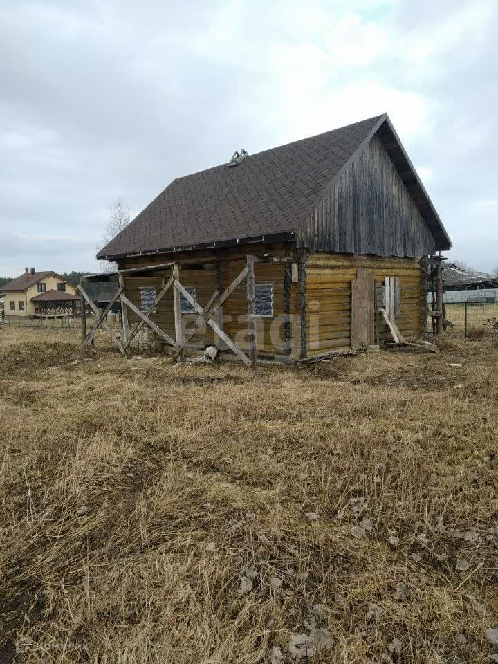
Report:
[{"label": "dark brown shingled gabled roof of the log house", "polygon": [[98,253],[99,259],[291,237],[354,154],[382,127],[382,141],[437,248],[450,248],[427,192],[387,115],[174,180]]}]

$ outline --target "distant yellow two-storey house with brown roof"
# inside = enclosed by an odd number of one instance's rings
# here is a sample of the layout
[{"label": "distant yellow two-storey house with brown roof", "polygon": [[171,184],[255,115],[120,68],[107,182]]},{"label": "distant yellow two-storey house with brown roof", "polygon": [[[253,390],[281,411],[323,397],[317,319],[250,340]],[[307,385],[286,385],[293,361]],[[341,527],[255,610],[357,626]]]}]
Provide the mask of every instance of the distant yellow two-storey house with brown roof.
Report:
[{"label": "distant yellow two-storey house with brown roof", "polygon": [[52,270],[24,274],[2,286],[5,317],[59,317],[74,315],[79,297],[76,289]]}]

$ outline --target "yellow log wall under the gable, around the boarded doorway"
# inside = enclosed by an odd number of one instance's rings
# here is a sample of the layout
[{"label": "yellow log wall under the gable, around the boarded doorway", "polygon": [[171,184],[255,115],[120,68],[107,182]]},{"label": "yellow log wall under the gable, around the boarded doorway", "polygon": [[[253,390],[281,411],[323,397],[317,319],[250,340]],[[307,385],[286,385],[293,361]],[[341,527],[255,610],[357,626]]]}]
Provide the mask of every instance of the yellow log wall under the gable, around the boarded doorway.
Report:
[{"label": "yellow log wall under the gable, around the boarded doorway", "polygon": [[[396,324],[406,338],[423,332],[423,274],[421,261],[309,254],[306,270],[307,355],[351,348],[351,282],[358,268],[372,270],[376,284],[385,277],[400,278],[400,313]],[[380,303],[378,303],[380,306]],[[378,340],[390,340],[387,324],[377,317]]]}]

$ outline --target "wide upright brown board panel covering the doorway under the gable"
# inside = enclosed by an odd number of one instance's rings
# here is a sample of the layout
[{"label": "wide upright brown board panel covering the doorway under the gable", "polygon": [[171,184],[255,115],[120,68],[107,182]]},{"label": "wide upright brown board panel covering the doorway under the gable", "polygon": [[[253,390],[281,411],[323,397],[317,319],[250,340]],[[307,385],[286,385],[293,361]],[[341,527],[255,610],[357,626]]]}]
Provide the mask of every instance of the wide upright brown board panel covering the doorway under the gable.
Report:
[{"label": "wide upright brown board panel covering the doorway under the gable", "polygon": [[351,286],[351,348],[371,346],[375,339],[374,273],[358,268]]}]

